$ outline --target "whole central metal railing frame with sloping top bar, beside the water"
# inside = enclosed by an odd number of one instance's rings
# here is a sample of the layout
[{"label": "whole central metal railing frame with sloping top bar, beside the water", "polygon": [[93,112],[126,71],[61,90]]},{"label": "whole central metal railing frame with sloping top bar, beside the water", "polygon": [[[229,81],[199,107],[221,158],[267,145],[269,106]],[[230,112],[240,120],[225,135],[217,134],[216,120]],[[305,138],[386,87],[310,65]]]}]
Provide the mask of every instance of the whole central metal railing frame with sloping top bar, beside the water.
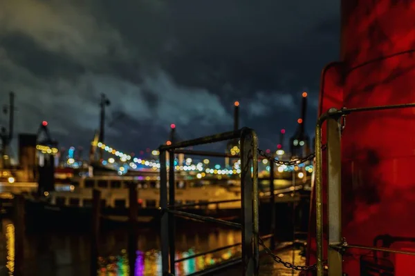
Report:
[{"label": "whole central metal railing frame with sloping top bar, beside the water", "polygon": [[[219,152],[205,152],[184,150],[190,146],[200,146],[230,139],[241,139],[241,154],[228,155]],[[242,229],[242,257],[241,260],[234,260],[226,266],[234,265],[235,262],[242,262],[243,275],[258,275],[259,271],[259,198],[258,198],[258,138],[254,130],[241,128],[232,132],[224,132],[218,135],[201,137],[189,141],[182,141],[172,145],[159,147],[160,151],[160,210],[161,214],[161,257],[163,275],[174,275],[176,262],[183,259],[175,259],[175,215],[196,219],[200,221],[210,221],[226,226]],[[169,187],[167,188],[167,161],[166,153],[169,152]],[[213,157],[232,157],[241,158],[241,206],[242,224],[237,224],[213,217],[195,215],[184,211],[175,210],[175,179],[174,179],[174,155],[175,153],[185,153],[187,155],[203,155]],[[251,171],[252,168],[252,171]],[[273,186],[273,185],[271,185]],[[239,200],[239,199],[238,199]],[[200,206],[203,204],[219,204],[221,202],[208,202],[192,204]],[[183,205],[183,206],[186,206]],[[189,205],[187,205],[189,206]],[[217,249],[216,249],[217,250]],[[216,252],[216,251],[215,251]],[[203,254],[202,254],[203,255]],[[193,256],[195,257],[195,256]],[[197,256],[196,256],[197,257]]]}]

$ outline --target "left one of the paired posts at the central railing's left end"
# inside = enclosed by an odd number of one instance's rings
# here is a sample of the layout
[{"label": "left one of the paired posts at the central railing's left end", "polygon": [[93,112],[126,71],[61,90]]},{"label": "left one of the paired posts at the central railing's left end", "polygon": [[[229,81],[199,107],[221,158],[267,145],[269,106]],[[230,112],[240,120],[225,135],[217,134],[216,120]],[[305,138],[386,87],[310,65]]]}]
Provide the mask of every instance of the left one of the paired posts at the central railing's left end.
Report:
[{"label": "left one of the paired posts at the central railing's left end", "polygon": [[160,242],[162,275],[169,275],[169,217],[167,209],[167,166],[166,151],[160,150]]}]

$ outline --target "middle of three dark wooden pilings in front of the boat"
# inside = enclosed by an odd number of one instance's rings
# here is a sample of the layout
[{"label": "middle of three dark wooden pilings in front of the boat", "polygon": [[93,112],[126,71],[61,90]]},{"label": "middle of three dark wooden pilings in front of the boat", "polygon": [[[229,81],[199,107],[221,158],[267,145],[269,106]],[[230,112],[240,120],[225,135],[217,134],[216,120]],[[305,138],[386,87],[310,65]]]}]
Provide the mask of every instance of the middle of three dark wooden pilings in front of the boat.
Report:
[{"label": "middle of three dark wooden pilings in front of the boat", "polygon": [[91,227],[91,276],[98,271],[98,243],[100,239],[101,191],[92,193],[92,227]]}]

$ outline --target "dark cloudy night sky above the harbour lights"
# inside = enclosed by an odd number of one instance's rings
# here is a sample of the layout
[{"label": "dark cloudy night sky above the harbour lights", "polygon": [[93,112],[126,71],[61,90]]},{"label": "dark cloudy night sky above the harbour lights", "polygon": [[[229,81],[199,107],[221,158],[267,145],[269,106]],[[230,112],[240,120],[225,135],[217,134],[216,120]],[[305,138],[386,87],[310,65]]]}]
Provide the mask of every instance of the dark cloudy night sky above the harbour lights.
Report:
[{"label": "dark cloudy night sky above the harbour lights", "polygon": [[[16,132],[41,121],[61,146],[99,126],[122,151],[241,126],[275,148],[292,135],[303,90],[313,135],[320,71],[338,58],[340,1],[0,0],[0,104],[16,93]],[[0,115],[0,124],[7,118]]]}]

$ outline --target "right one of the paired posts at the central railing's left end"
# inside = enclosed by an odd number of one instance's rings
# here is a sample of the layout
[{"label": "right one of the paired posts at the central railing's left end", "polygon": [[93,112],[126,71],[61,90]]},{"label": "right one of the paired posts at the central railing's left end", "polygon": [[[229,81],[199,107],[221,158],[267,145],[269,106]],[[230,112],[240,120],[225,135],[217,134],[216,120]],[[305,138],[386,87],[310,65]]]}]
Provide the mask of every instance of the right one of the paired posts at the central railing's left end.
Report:
[{"label": "right one of the paired posts at the central railing's left end", "polygon": [[[174,210],[176,190],[176,179],[174,179],[174,150],[169,151],[169,206]],[[176,225],[174,214],[169,213],[169,248],[170,248],[170,273],[176,275],[175,261],[176,248],[174,246],[174,236],[176,235]]]}]

